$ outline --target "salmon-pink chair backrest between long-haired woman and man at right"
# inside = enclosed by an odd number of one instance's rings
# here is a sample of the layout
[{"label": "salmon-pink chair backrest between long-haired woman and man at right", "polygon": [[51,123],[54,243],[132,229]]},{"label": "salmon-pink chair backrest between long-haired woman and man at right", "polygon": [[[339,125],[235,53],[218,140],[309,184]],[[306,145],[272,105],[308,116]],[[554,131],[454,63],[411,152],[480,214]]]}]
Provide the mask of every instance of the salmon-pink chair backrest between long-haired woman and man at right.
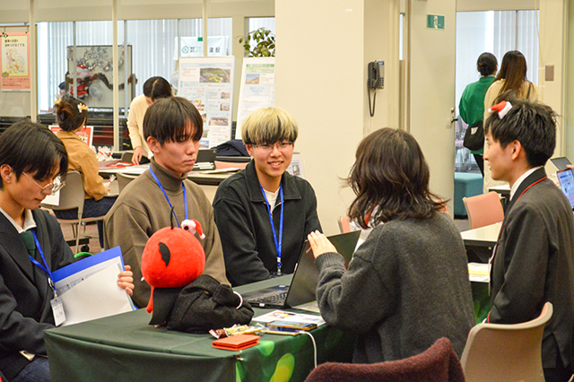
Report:
[{"label": "salmon-pink chair backrest between long-haired woman and man at right", "polygon": [[498,193],[463,197],[470,228],[481,228],[504,220],[504,209]]}]

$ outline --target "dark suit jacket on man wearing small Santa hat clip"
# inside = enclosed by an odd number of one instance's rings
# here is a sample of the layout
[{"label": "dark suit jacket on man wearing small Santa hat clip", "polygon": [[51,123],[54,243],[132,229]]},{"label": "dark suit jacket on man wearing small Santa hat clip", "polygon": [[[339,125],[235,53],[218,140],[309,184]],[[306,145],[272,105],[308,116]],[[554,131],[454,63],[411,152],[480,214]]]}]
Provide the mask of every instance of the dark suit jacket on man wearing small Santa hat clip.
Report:
[{"label": "dark suit jacket on man wearing small Santa hat clip", "polygon": [[544,327],[543,366],[572,364],[574,336],[574,219],[570,203],[544,169],[518,187],[507,206],[491,270],[488,321],[517,324],[553,306]]}]

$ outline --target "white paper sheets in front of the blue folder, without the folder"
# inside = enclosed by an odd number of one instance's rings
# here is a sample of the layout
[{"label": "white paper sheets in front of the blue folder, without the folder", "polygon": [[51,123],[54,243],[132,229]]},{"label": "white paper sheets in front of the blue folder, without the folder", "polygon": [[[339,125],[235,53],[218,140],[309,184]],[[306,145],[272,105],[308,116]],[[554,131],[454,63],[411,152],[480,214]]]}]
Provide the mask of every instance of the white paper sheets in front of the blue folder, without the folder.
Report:
[{"label": "white paper sheets in front of the blue folder, without the folder", "polygon": [[62,294],[62,326],[132,311],[126,291],[117,286],[117,273],[117,265],[110,265]]}]

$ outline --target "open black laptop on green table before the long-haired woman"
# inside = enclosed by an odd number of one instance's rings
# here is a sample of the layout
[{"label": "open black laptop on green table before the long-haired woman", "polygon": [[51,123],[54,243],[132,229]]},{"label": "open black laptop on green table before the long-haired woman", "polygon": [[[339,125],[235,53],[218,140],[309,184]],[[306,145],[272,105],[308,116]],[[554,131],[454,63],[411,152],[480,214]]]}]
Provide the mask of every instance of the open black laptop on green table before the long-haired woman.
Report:
[{"label": "open black laptop on green table before the long-haired woman", "polygon": [[[344,256],[345,266],[352,259],[357,241],[361,236],[360,230],[329,236],[337,252]],[[259,291],[250,291],[242,295],[243,300],[257,308],[293,308],[316,300],[319,272],[315,266],[315,256],[305,240],[299,256],[299,262],[295,267],[291,285],[276,285]]]}]

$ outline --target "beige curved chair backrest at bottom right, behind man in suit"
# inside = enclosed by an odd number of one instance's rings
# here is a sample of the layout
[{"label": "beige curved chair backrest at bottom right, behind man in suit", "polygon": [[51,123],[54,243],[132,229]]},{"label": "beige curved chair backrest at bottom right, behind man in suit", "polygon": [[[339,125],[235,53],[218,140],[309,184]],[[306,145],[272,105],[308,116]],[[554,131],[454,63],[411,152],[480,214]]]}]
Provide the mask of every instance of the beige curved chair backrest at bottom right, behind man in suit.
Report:
[{"label": "beige curved chair backrest at bottom right, behind man in suit", "polygon": [[479,324],[468,334],[461,364],[466,382],[544,382],[542,337],[552,304],[522,324]]}]

